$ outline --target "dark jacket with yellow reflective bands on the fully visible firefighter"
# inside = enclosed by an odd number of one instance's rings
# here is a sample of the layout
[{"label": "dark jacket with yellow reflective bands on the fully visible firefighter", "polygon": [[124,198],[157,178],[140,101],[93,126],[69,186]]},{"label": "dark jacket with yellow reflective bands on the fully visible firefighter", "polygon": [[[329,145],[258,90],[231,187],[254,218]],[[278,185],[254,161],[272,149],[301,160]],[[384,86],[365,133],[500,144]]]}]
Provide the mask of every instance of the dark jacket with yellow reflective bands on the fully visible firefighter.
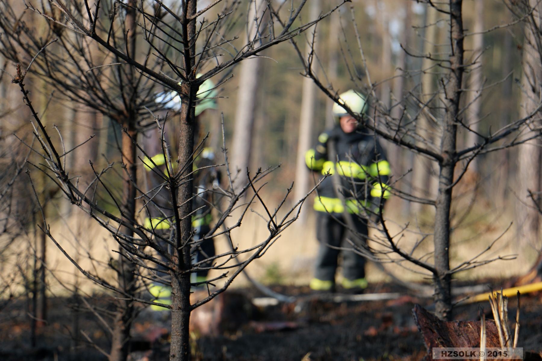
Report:
[{"label": "dark jacket with yellow reflective bands on the fully visible firefighter", "polygon": [[[333,145],[335,152],[331,152]],[[331,154],[335,159],[331,159]],[[338,159],[337,159],[338,157]],[[390,163],[375,135],[363,130],[346,134],[340,126],[326,130],[318,136],[317,145],[305,154],[307,167],[314,171],[340,175],[341,189],[347,211],[359,213],[361,207],[380,204],[391,193],[386,187]],[[318,187],[314,209],[319,212],[343,213],[344,204],[333,187],[332,176],[327,176]]]}]

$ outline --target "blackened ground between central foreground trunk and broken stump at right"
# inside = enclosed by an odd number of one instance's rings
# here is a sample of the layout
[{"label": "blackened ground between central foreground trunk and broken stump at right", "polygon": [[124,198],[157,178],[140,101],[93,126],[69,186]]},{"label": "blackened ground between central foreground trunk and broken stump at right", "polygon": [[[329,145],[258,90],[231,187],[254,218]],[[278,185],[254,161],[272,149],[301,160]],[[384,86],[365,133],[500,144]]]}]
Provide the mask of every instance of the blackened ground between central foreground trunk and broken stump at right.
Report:
[{"label": "blackened ground between central foreground trunk and broken stump at right", "polygon": [[[310,294],[305,287],[274,290],[294,296]],[[254,293],[251,296],[261,296]],[[308,299],[258,307],[255,320],[237,332],[199,339],[199,356],[203,360],[300,361],[309,353],[311,360],[421,359],[425,346],[411,316],[413,302],[425,304],[404,296],[341,303]],[[282,330],[274,330],[281,326]]]}]

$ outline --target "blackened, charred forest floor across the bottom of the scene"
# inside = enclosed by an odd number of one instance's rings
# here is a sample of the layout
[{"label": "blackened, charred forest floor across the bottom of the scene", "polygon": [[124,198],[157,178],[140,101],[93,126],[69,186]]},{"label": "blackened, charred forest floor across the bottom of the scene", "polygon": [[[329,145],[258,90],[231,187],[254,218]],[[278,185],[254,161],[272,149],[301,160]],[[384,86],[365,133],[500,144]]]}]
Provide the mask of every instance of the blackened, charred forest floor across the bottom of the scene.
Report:
[{"label": "blackened, charred forest floor across the bottom of the scene", "polygon": [[[500,288],[497,281],[492,284]],[[228,291],[229,296],[225,294],[221,306],[224,316],[220,324],[214,325],[214,336],[199,330],[191,333],[192,359],[415,361],[421,360],[426,353],[411,310],[414,304],[431,310],[431,299],[409,296],[401,287],[386,284],[372,285],[365,293],[401,292],[404,296],[384,301],[335,302],[311,298],[306,287],[276,286],[273,289],[301,300],[291,304],[254,306],[250,300],[263,297],[259,291],[251,288]],[[540,293],[530,294],[521,299],[518,346],[525,350],[542,350],[541,296]],[[102,298],[94,304],[106,301]],[[511,299],[511,315],[515,315],[515,304],[515,299]],[[475,320],[479,305],[486,312],[490,310],[488,303],[460,305],[454,310],[454,319]],[[24,301],[12,301],[0,310],[0,359],[107,359],[95,347],[108,350],[107,328],[92,312],[76,311],[73,300],[49,300],[48,324],[37,329],[34,347],[31,346],[27,310],[28,304]],[[133,325],[130,359],[167,360],[169,330],[169,311],[145,309]]]}]

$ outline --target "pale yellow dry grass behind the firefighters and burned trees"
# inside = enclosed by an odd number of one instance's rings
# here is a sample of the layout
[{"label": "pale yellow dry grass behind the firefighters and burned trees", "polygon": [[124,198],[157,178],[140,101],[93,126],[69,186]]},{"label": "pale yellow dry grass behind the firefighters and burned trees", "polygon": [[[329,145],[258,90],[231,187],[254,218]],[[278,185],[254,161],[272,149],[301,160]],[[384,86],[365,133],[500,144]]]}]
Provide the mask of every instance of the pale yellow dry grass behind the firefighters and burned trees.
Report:
[{"label": "pale yellow dry grass behind the firefighters and burned trees", "polygon": [[[398,203],[397,199],[390,200],[386,206],[386,216],[390,219],[387,224],[392,233],[398,232],[400,226],[405,223],[405,217],[401,214],[401,207],[399,207]],[[311,204],[307,204],[306,206],[310,207]],[[467,227],[457,229],[454,232],[450,261],[452,266],[462,260],[472,258],[474,254],[485,249],[488,244],[505,231],[512,219],[511,214],[504,213],[497,218],[494,214],[488,213],[483,215],[482,211],[476,210],[473,212],[474,218],[476,217],[476,212],[479,214],[479,220],[470,222]],[[315,237],[314,212],[310,213],[311,215],[306,225],[294,224],[286,229],[261,259],[255,260],[247,267],[247,272],[252,277],[263,281],[266,279],[268,281],[278,279],[282,283],[291,285],[308,284],[313,274],[314,257],[319,247]],[[394,221],[396,222],[395,224]],[[417,226],[416,222],[412,222],[409,230],[418,231]],[[259,215],[249,212],[243,220],[241,228],[236,229],[232,233],[234,244],[238,244],[240,248],[246,248],[261,242],[263,238],[267,237],[266,228],[266,222]],[[424,228],[427,229],[427,225],[420,226],[420,229],[423,230]],[[59,240],[61,245],[65,247],[66,251],[74,259],[78,259],[81,262],[83,269],[93,271],[100,274],[102,278],[114,281],[114,273],[107,265],[111,259],[117,259],[117,253],[113,252],[113,250],[117,249],[117,245],[111,235],[97,226],[95,222],[81,213],[75,213],[68,221],[57,221],[52,224],[51,232]],[[509,229],[495,243],[492,250],[487,253],[486,258],[519,253],[517,259],[512,261],[495,261],[491,264],[459,273],[456,275],[456,278],[468,280],[488,277],[510,278],[526,273],[532,266],[532,262],[536,259],[537,254],[525,248],[518,250],[518,242],[515,242],[513,234],[514,229]],[[371,235],[372,237],[377,237],[375,232],[371,232]],[[416,242],[418,237],[419,235],[416,233],[404,232],[404,238],[401,240],[400,245],[408,249],[409,246]],[[425,240],[417,252],[419,254],[430,252],[431,242],[431,239]],[[17,247],[28,247],[28,245],[28,239],[21,239],[17,242]],[[224,238],[218,238],[215,241],[215,245],[217,252],[224,252],[228,249]],[[92,260],[89,256],[92,257]],[[12,274],[14,272],[16,263],[19,260],[16,257],[12,257],[4,262],[1,270],[4,279],[6,279],[8,273]],[[64,284],[68,288],[77,285],[80,290],[89,293],[99,290],[98,286],[76,272],[75,267],[70,261],[50,241],[48,241],[47,263],[56,278],[49,277],[49,286],[52,293],[62,294],[68,292],[61,284]],[[427,277],[405,271],[405,268],[395,264],[386,264],[385,267],[399,279],[428,281]],[[405,265],[405,267],[420,271],[420,268],[409,265]],[[273,273],[275,276],[269,277],[270,273]],[[210,276],[212,277],[217,274],[218,271],[212,271]],[[378,271],[375,265],[372,264],[367,266],[367,278],[371,283],[389,280],[387,279],[388,276]],[[247,284],[247,279],[240,275],[232,286],[243,287]],[[22,292],[22,286],[18,286],[17,292]]]}]

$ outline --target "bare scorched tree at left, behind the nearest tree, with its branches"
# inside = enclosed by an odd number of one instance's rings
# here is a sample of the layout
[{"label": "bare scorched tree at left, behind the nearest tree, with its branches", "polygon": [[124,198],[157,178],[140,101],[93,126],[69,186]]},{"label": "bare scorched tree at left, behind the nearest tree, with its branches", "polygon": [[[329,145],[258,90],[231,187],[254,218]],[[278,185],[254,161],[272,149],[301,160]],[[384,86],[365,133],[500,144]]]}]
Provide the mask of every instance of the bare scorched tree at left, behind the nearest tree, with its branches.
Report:
[{"label": "bare scorched tree at left, behind the nearest tree, with its branches", "polygon": [[[115,47],[126,49],[128,54],[134,58],[147,58],[151,54],[152,48],[138,49],[138,12],[135,11],[133,5],[134,3],[130,2],[126,8],[118,9],[118,4],[114,2],[102,4],[106,12],[118,12],[118,18],[113,19],[109,24],[110,29],[114,30],[108,32],[108,40]],[[118,56],[100,50],[94,42],[89,41],[80,32],[69,31],[54,21],[44,22],[41,27],[36,27],[33,24],[36,16],[39,15],[56,21],[62,19],[64,15],[56,6],[51,6],[48,3],[42,3],[36,8],[32,3],[29,3],[28,6],[29,10],[34,12],[21,16],[17,12],[17,6],[14,6],[12,2],[2,1],[0,3],[0,28],[2,28],[4,35],[0,40],[2,44],[0,52],[11,62],[27,64],[38,52],[40,53],[35,58],[33,67],[29,69],[30,74],[43,80],[56,91],[56,94],[60,94],[57,96],[59,101],[69,104],[69,107],[74,108],[74,112],[79,110],[75,119],[70,119],[68,122],[83,123],[85,122],[83,114],[95,111],[126,130],[120,134],[121,140],[117,142],[121,159],[119,173],[122,175],[122,197],[119,204],[122,208],[122,216],[126,221],[133,222],[136,218],[135,199],[138,185],[137,148],[133,140],[138,139],[138,134],[145,129],[156,127],[152,117],[149,116],[149,109],[156,110],[160,106],[154,99],[156,93],[161,89],[157,89],[156,83],[143,74],[126,66]],[[79,12],[82,8],[75,6],[73,10]],[[96,16],[103,15],[96,14]],[[38,20],[43,21],[40,18]],[[99,23],[98,25],[104,24]],[[100,28],[96,31],[107,32],[110,29]],[[127,36],[125,36],[126,34]],[[50,45],[44,48],[49,43]],[[156,71],[162,69],[162,65],[156,61],[147,65]],[[45,119],[42,121],[47,123]],[[106,122],[102,122],[101,126],[107,127]],[[92,130],[97,128],[93,122],[89,124],[89,127],[93,128]],[[68,134],[69,128],[62,129],[66,146],[74,143]],[[91,135],[90,138],[94,135]],[[90,154],[79,152],[87,142],[97,143],[93,139],[84,139],[85,136],[83,134],[83,136],[75,137],[76,139],[83,138],[79,144],[74,144],[76,146],[73,152],[75,157],[79,158],[78,162],[82,165],[86,165],[89,161],[95,164],[101,163],[98,154],[93,154],[96,153],[95,149]],[[64,162],[66,162],[66,157]],[[82,157],[84,158],[81,159]],[[74,166],[72,165],[70,168],[73,169]],[[93,178],[92,169],[82,166],[82,169],[76,167],[74,170],[83,175],[80,181],[81,185],[87,186]],[[81,173],[82,170],[86,172]],[[131,230],[124,226],[122,226],[122,232],[128,237],[132,237]],[[44,247],[42,248],[44,250]],[[119,251],[124,252],[122,247],[119,248]],[[119,255],[116,271],[119,287],[128,293],[134,292],[132,275],[134,265],[127,262],[122,254]],[[118,319],[114,322],[110,360],[126,359],[130,325],[134,316],[135,310],[132,302],[119,301]]]}]

